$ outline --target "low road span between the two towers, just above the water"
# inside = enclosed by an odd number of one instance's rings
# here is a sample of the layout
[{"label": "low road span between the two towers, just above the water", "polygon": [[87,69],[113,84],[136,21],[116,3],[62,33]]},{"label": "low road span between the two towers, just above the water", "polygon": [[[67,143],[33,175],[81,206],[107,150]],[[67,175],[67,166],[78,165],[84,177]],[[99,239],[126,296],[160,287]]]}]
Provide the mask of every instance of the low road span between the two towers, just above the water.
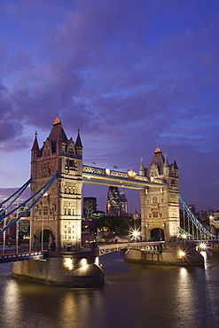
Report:
[{"label": "low road span between the two towers, just above the water", "polygon": [[150,254],[160,254],[162,249],[162,244],[164,241],[145,241],[137,243],[121,243],[121,244],[108,244],[108,245],[99,245],[99,254],[104,255],[111,252],[116,252],[121,249],[128,248],[140,248],[144,249],[145,253]]}]

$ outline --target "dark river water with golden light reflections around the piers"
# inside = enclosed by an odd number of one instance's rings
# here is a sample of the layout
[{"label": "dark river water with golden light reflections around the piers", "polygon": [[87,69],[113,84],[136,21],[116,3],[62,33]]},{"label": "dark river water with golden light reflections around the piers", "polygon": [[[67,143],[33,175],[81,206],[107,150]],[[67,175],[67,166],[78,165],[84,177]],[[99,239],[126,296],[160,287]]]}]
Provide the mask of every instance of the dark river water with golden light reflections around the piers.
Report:
[{"label": "dark river water with golden light reflections around the piers", "polygon": [[11,277],[0,264],[0,327],[219,327],[219,257],[205,268],[165,267],[101,257],[102,289],[66,289]]}]

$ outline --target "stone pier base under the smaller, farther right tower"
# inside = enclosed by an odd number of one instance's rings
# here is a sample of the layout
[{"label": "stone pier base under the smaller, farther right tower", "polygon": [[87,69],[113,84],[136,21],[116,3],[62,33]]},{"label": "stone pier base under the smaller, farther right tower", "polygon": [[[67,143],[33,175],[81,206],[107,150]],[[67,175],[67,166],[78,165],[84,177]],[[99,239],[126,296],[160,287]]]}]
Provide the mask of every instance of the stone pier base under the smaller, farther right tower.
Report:
[{"label": "stone pier base under the smaller, farther right tower", "polygon": [[145,249],[129,248],[125,259],[129,262],[151,264],[204,266],[204,258],[196,250],[196,246],[193,242],[166,242],[157,254]]}]

